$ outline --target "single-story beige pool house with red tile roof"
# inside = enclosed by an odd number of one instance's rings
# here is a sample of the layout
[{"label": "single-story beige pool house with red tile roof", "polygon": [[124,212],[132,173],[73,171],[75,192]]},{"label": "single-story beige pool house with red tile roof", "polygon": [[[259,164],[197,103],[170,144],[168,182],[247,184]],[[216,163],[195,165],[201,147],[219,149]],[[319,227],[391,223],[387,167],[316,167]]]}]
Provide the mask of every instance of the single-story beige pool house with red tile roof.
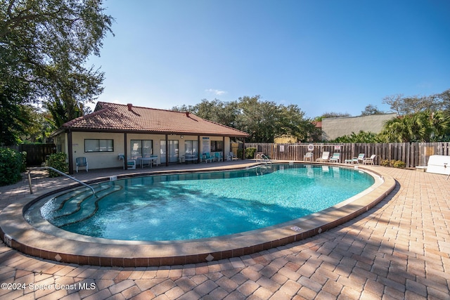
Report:
[{"label": "single-story beige pool house with red tile roof", "polygon": [[157,157],[168,165],[190,159],[200,162],[203,152],[231,150],[230,138],[248,133],[210,122],[189,112],[98,102],[93,113],[78,117],[53,133],[58,151],[68,154],[69,173],[77,157],[86,157],[89,169],[127,166],[140,157]]}]

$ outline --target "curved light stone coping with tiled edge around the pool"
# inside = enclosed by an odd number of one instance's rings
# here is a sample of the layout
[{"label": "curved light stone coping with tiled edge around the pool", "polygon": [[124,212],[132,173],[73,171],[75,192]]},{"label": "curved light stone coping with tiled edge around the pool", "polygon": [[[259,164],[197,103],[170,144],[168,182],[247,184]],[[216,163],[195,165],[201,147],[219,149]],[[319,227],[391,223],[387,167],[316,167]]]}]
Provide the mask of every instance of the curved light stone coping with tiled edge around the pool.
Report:
[{"label": "curved light stone coping with tiled edge around the pool", "polygon": [[[288,161],[278,162],[288,163]],[[299,163],[315,164],[314,162]],[[349,167],[345,164],[321,165],[344,168],[355,167]],[[30,202],[55,193],[55,190],[53,190],[51,193],[45,193],[39,197],[27,195],[20,202],[6,207],[0,214],[0,237],[8,247],[17,249],[25,254],[42,259],[80,265],[148,267],[184,265],[229,259],[304,240],[307,237],[312,237],[330,228],[339,226],[368,211],[394,190],[396,183],[391,176],[383,174],[382,171],[373,167],[362,167],[359,165],[358,168],[375,178],[374,185],[360,193],[361,195],[351,197],[338,205],[304,218],[236,235],[171,242],[120,241],[97,238],[87,239],[89,241],[70,240],[50,235],[34,228],[25,221],[23,216],[23,211]],[[208,171],[224,171],[224,169],[210,169]],[[176,173],[186,172],[189,171],[184,170]],[[149,172],[148,174],[174,173],[174,171],[157,171]],[[136,176],[144,175],[146,174],[136,174]],[[117,176],[117,178],[121,177],[129,176]],[[98,181],[101,180],[96,179],[90,182]],[[70,188],[73,188],[73,185]],[[70,237],[70,235],[67,236]],[[95,242],[92,242],[93,240]],[[103,240],[106,240],[108,243],[105,243]]]}]

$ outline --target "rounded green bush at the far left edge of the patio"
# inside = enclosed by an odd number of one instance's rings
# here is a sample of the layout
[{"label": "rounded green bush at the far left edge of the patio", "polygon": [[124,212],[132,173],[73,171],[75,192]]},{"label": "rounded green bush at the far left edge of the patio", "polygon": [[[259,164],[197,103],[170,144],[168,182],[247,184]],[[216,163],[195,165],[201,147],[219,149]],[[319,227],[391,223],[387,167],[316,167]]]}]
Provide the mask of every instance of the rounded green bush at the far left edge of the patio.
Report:
[{"label": "rounded green bush at the far left edge of the patio", "polygon": [[0,148],[0,186],[20,181],[22,168],[22,153],[8,148]]}]

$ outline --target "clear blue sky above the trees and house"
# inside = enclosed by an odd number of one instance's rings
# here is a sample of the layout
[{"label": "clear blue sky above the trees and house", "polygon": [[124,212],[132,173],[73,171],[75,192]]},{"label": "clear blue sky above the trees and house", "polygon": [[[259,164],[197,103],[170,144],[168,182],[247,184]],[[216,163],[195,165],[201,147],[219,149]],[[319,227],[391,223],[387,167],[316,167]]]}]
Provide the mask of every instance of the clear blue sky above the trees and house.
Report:
[{"label": "clear blue sky above the trees and house", "polygon": [[106,0],[97,100],[171,109],[262,96],[307,117],[450,89],[448,0]]}]

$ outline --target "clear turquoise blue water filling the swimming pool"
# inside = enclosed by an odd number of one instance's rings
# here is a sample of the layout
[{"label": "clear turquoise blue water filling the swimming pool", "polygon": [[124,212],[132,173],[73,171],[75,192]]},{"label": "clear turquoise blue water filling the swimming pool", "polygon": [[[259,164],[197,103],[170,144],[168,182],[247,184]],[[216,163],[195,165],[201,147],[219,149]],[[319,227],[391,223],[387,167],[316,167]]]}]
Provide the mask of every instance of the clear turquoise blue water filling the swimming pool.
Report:
[{"label": "clear turquoise blue water filling the swimming pool", "polygon": [[[79,188],[33,204],[64,230],[115,240],[191,240],[313,214],[374,183],[354,169],[274,164],[239,171],[146,176]],[[26,219],[32,219],[30,213]]]}]

